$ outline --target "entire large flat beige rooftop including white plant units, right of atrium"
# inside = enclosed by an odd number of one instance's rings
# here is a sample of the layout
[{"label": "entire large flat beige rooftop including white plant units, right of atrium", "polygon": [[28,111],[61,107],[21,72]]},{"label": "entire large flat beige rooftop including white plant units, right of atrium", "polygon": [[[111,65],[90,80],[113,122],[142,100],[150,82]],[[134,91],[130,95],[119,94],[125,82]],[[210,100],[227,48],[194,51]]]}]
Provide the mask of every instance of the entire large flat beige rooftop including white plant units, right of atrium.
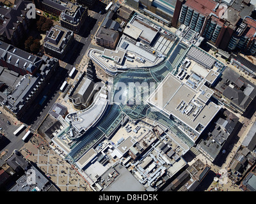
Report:
[{"label": "entire large flat beige rooftop including white plant units, right of atrium", "polygon": [[196,92],[169,73],[150,96],[148,103],[200,133],[221,108],[209,101],[212,93],[205,85]]}]

